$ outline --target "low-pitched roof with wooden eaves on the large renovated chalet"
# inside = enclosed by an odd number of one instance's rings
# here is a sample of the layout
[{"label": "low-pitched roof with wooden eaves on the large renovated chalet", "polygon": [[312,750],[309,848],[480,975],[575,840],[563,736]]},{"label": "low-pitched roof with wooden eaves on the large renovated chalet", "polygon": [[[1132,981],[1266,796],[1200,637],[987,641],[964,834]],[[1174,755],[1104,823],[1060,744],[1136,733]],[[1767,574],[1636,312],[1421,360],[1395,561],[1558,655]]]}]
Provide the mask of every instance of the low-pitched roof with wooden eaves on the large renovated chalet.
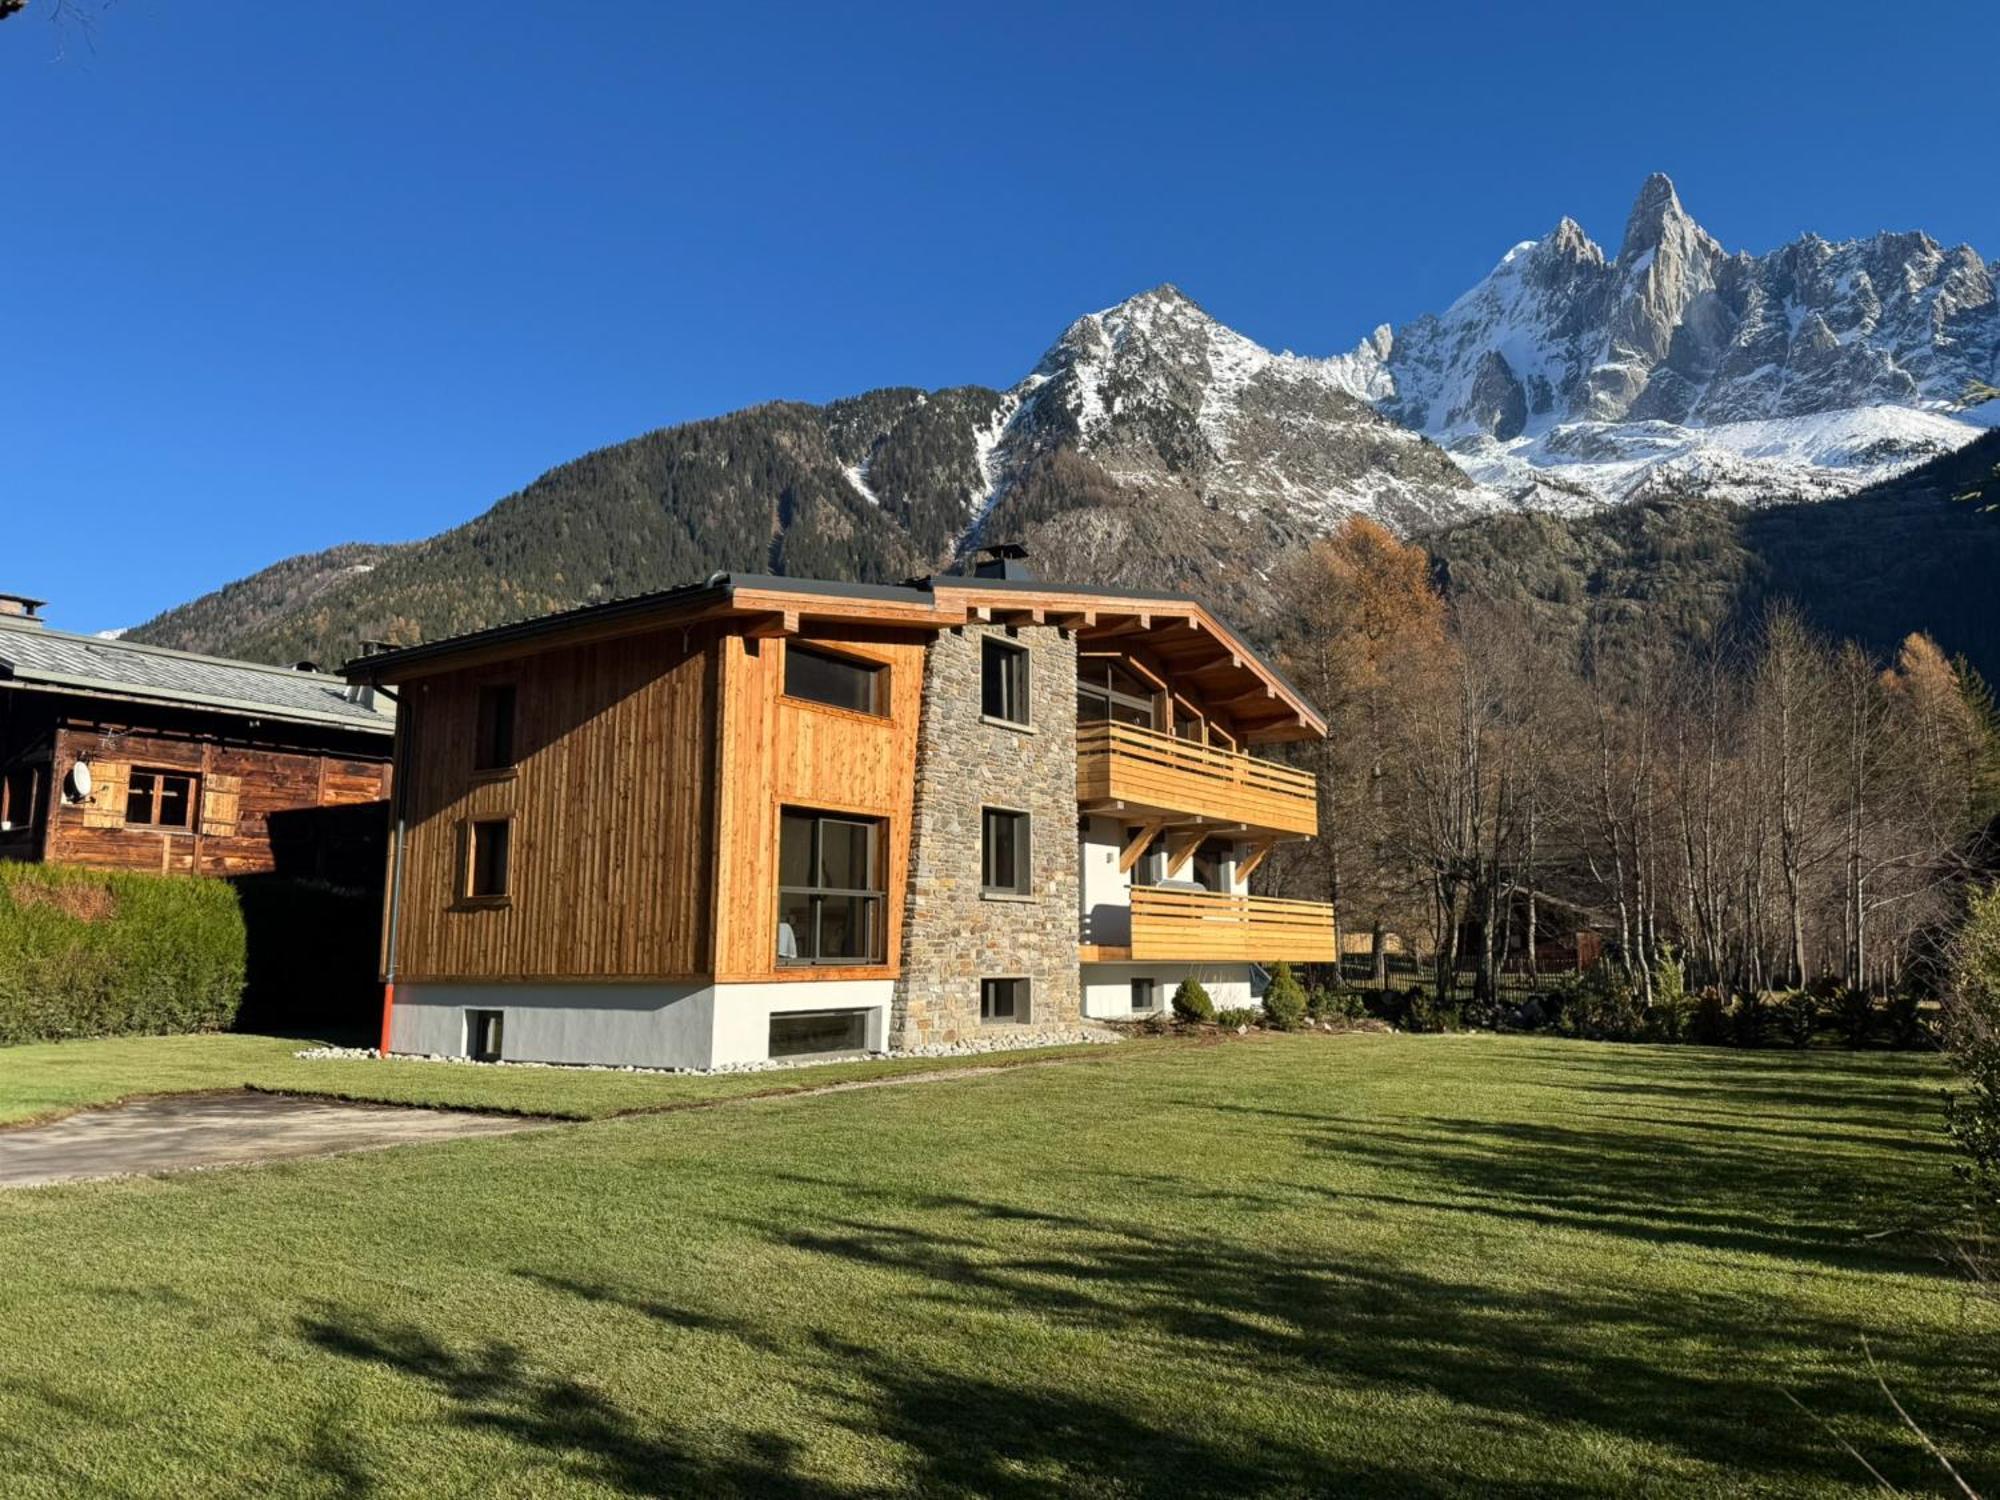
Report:
[{"label": "low-pitched roof with wooden eaves on the large renovated chalet", "polygon": [[[396,682],[470,658],[506,656],[572,640],[596,640],[702,618],[770,616],[776,632],[802,622],[868,620],[880,626],[946,630],[970,620],[1034,620],[1064,624],[1086,638],[1148,636],[1146,646],[1170,666],[1252,682],[1252,706],[1238,700],[1246,718],[1266,720],[1268,738],[1302,738],[1326,732],[1326,720],[1276,666],[1264,660],[1200,600],[1186,594],[1096,584],[1048,584],[1022,578],[938,574],[906,584],[850,584],[824,578],[770,574],[714,574],[706,582],[574,610],[514,620],[464,636],[428,640],[348,662],[342,672],[358,682]],[[1172,638],[1166,626],[1180,626]]]}]

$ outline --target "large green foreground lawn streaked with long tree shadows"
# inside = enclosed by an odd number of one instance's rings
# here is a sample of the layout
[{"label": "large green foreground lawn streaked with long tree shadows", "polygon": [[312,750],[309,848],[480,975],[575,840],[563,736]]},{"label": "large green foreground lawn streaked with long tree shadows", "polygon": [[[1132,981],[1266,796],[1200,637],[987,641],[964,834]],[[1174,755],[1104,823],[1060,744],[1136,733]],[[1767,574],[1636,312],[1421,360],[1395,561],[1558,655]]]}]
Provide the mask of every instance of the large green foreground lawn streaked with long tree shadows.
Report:
[{"label": "large green foreground lawn streaked with long tree shadows", "polygon": [[1940,1082],[1232,1038],[0,1194],[0,1494],[1866,1494],[1784,1390],[1938,1492],[1862,1336],[2000,1494]]}]

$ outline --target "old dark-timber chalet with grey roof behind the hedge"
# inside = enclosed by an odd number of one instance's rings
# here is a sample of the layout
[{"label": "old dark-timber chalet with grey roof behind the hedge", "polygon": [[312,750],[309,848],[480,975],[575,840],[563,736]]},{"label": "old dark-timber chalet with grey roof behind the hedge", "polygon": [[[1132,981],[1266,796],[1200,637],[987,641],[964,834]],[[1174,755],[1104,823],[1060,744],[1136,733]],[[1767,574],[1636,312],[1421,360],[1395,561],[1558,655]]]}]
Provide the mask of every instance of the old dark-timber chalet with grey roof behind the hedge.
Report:
[{"label": "old dark-timber chalet with grey roof behind the hedge", "polygon": [[0,594],[0,858],[328,874],[332,826],[374,848],[366,878],[380,878],[386,698],[324,672],[52,630],[38,610]]}]

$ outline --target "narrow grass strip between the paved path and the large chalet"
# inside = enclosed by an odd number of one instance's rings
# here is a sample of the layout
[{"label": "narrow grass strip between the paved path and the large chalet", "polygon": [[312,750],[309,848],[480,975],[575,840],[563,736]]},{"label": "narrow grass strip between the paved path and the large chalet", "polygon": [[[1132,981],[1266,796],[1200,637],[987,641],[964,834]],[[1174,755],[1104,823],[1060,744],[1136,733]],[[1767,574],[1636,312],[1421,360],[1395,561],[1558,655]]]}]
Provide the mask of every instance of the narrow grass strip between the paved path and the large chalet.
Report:
[{"label": "narrow grass strip between the paved path and the large chalet", "polygon": [[[262,1088],[282,1094],[432,1104],[506,1114],[600,1120],[634,1110],[670,1110],[746,1094],[894,1078],[938,1068],[1012,1068],[1102,1046],[988,1052],[972,1058],[876,1058],[740,1074],[640,1074],[588,1068],[484,1068],[388,1060],[302,1060],[310,1040],[280,1036],[114,1036],[0,1048],[0,1126],[70,1114],[138,1094]],[[1158,1046],[1140,1042],[1138,1046]]]}]

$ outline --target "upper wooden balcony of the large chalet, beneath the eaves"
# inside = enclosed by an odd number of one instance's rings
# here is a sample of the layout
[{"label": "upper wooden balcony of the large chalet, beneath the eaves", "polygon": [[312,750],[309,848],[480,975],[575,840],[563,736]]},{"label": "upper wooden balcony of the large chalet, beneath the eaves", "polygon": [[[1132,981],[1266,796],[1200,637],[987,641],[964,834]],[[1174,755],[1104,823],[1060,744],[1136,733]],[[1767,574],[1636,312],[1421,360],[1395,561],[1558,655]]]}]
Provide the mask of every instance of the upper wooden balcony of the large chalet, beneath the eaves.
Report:
[{"label": "upper wooden balcony of the large chalet, beneath the eaves", "polygon": [[1076,730],[1076,800],[1086,808],[1242,824],[1288,838],[1320,832],[1312,772],[1134,724]]}]

